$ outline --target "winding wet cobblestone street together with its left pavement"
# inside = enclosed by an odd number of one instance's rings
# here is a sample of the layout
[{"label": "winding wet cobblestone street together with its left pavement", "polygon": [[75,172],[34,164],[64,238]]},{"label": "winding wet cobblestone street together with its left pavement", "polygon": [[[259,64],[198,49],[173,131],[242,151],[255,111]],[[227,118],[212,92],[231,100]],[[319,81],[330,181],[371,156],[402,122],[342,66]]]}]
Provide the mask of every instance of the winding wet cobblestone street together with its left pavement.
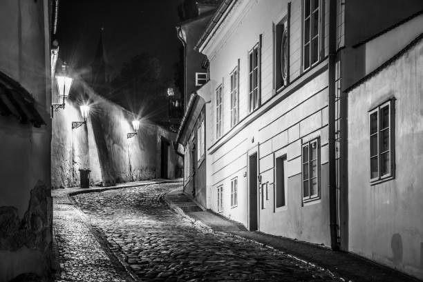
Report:
[{"label": "winding wet cobblestone street together with its left pavement", "polygon": [[[209,232],[173,212],[161,196],[179,186],[162,183],[73,197],[86,216],[76,208],[55,215],[59,281],[132,280],[122,265],[140,281],[332,281],[284,254]],[[81,228],[80,221],[91,228]],[[90,230],[102,235],[100,243]],[[107,250],[121,263],[113,262]]]}]

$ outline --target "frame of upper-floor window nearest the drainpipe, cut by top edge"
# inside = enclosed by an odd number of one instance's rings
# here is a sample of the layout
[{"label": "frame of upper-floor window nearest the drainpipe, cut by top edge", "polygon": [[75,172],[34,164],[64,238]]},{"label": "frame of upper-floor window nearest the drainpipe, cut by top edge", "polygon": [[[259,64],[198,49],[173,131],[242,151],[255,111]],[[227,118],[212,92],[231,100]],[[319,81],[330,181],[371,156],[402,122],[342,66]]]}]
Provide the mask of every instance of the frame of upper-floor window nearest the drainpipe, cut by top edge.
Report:
[{"label": "frame of upper-floor window nearest the drainpipe, cut by top edge", "polygon": [[[306,2],[310,1],[310,14],[306,17]],[[318,1],[319,3],[319,8],[312,10],[312,3],[314,1]],[[302,71],[305,72],[306,70],[310,70],[311,68],[313,68],[314,66],[316,66],[320,60],[321,60],[321,47],[322,47],[322,43],[321,43],[321,37],[322,37],[322,30],[321,30],[321,21],[322,21],[322,1],[321,0],[303,0],[302,1],[302,14],[301,14],[301,53],[302,53],[302,59],[301,59],[301,65],[302,65]],[[312,26],[314,23],[314,19],[312,17],[312,14],[315,12],[315,10],[318,10],[318,25],[317,25],[317,35],[315,35],[314,37],[312,36]],[[306,43],[306,21],[310,19],[310,29],[309,29],[309,40]],[[312,63],[312,56],[313,56],[313,52],[312,52],[312,41],[313,39],[315,39],[317,41],[317,61],[315,61],[314,63]],[[305,64],[305,60],[306,60],[306,45],[308,45],[309,50],[308,50],[308,55],[309,55],[309,59],[308,59],[308,67],[306,67]]]}]

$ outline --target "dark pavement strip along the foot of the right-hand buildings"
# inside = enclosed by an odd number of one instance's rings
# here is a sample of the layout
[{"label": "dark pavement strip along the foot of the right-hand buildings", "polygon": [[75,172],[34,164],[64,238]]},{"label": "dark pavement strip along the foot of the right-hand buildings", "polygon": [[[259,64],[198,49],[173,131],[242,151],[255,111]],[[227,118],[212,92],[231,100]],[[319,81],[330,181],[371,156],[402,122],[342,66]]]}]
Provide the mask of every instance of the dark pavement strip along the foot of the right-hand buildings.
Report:
[{"label": "dark pavement strip along the foot of the right-hand buildings", "polygon": [[[319,245],[305,243],[297,240],[273,236],[256,231],[247,231],[239,223],[225,219],[223,216],[215,214],[209,210],[202,212],[190,212],[185,209],[189,198],[182,193],[182,189],[173,190],[167,194],[165,199],[169,205],[180,214],[187,216],[198,225],[203,225],[210,230],[224,232],[227,236],[234,236],[244,241],[251,241],[258,245],[266,246],[277,252],[283,252],[293,259],[303,261],[310,265],[319,265],[321,269],[338,277],[343,277],[346,281],[355,282],[411,282],[419,281],[413,277],[397,272],[383,265],[378,265],[372,261],[362,259],[359,256],[348,252],[334,252]],[[180,203],[184,203],[180,205]],[[194,204],[194,202],[191,202]]]}]

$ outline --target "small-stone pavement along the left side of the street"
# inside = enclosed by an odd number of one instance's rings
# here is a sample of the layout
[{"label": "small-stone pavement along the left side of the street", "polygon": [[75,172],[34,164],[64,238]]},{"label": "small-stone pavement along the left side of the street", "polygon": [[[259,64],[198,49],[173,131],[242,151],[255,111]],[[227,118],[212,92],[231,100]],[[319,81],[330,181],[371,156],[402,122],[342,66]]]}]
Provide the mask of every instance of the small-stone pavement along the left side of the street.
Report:
[{"label": "small-stone pavement along the left side of the street", "polygon": [[91,224],[87,223],[87,217],[75,208],[68,194],[160,182],[162,181],[138,181],[106,188],[52,190],[55,254],[53,269],[57,271],[55,281],[133,281],[112,252],[108,250],[101,234],[92,230]]}]

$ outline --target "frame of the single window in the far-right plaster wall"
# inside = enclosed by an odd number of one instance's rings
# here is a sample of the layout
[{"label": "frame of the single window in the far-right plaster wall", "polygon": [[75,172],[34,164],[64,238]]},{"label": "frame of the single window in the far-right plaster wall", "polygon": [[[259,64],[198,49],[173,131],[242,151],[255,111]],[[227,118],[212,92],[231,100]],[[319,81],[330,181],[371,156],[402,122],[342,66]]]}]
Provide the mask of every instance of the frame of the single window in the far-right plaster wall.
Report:
[{"label": "frame of the single window in the far-right plaster wall", "polygon": [[[381,118],[381,114],[382,114],[382,109],[385,108],[386,106],[388,106],[388,128],[382,128],[382,118]],[[371,130],[371,116],[373,114],[376,114],[377,117],[377,132],[372,134]],[[382,138],[381,138],[381,134],[382,131],[384,130],[388,130],[389,133],[389,145],[388,145],[388,150],[382,152]],[[386,181],[386,180],[391,180],[395,178],[395,108],[394,108],[394,99],[389,99],[388,101],[385,101],[384,103],[381,103],[379,105],[377,105],[375,108],[373,108],[372,110],[368,111],[368,134],[369,134],[369,154],[368,154],[368,159],[369,159],[369,177],[370,177],[370,183],[372,184],[376,184],[382,181]],[[373,135],[377,135],[377,154],[372,156],[372,152],[371,152],[371,137]],[[382,154],[388,153],[389,154],[389,173],[388,174],[383,174],[382,175]],[[373,157],[377,157],[377,177],[373,177],[372,178],[372,164],[371,164],[371,159],[373,159]]]}]

